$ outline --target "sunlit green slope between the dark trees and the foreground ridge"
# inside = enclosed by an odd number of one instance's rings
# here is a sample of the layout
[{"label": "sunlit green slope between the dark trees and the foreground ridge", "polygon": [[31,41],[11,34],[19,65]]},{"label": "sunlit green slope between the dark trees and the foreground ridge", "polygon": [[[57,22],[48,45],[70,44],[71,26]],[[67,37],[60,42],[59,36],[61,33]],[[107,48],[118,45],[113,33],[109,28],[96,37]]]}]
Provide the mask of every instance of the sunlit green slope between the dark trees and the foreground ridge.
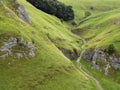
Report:
[{"label": "sunlit green slope between the dark trees and the foreground ridge", "polygon": [[57,47],[80,50],[80,37],[68,31],[58,18],[37,10],[22,0],[19,0],[19,2],[25,5],[27,12],[30,14],[30,19],[34,22],[33,27],[44,33]]}]

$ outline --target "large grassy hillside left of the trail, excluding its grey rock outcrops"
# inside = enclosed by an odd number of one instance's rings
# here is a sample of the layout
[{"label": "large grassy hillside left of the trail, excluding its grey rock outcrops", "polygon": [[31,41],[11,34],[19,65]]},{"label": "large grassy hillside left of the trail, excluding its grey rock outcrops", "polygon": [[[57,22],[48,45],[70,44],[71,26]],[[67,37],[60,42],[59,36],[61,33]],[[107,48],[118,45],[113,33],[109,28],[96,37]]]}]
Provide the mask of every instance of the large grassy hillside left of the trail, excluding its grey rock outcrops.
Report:
[{"label": "large grassy hillside left of the trail, excluding its grey rock outcrops", "polygon": [[[36,56],[0,59],[0,90],[97,90],[95,83],[56,48],[80,49],[76,43],[80,38],[69,32],[59,19],[37,10],[25,0],[18,1],[25,6],[32,24],[18,18],[12,10],[13,2],[5,0],[0,4],[0,46],[9,37],[34,40]],[[61,39],[65,42],[60,43]]]}]

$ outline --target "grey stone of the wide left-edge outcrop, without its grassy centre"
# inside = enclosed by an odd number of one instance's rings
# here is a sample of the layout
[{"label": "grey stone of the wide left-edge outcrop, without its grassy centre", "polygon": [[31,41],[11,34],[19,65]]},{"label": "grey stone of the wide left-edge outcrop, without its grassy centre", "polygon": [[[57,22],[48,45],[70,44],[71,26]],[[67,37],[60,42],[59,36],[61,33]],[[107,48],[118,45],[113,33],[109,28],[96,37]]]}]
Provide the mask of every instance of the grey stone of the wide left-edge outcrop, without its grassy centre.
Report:
[{"label": "grey stone of the wide left-edge outcrop, without its grassy centre", "polygon": [[[28,51],[24,51],[24,50],[20,51],[21,53],[18,50],[18,52],[16,52],[16,55],[13,55],[12,49],[14,46],[19,45],[19,43],[23,43],[24,44],[23,46],[26,46],[26,47],[21,46],[21,48],[28,48],[29,50]],[[22,37],[19,38],[19,42],[17,42],[17,38],[10,37],[8,39],[8,41],[4,42],[3,46],[0,47],[0,51],[5,52],[5,54],[0,56],[0,58],[2,58],[2,59],[6,59],[9,56],[14,56],[14,57],[17,57],[18,59],[21,59],[21,58],[27,57],[27,56],[35,57],[34,44],[32,42],[24,43],[24,38],[22,38]]]}]

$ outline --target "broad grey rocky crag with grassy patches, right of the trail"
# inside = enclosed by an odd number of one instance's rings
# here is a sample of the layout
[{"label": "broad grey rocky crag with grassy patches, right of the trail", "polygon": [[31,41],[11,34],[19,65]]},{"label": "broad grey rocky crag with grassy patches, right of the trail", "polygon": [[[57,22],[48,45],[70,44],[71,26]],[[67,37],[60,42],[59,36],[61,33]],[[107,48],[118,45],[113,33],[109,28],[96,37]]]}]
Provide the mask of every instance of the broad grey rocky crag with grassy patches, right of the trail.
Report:
[{"label": "broad grey rocky crag with grassy patches, right of the trail", "polygon": [[87,61],[91,61],[92,69],[104,71],[105,75],[108,75],[110,67],[120,70],[120,58],[116,57],[115,55],[110,56],[99,49],[85,52],[82,58]]}]

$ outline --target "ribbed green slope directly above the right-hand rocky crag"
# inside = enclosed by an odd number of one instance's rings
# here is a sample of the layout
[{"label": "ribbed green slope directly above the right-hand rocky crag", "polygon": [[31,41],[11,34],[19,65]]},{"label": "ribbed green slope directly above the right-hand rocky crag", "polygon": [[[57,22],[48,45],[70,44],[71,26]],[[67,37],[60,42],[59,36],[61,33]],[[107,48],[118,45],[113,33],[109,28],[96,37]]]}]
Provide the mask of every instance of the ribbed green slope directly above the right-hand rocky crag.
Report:
[{"label": "ribbed green slope directly above the right-hand rocky crag", "polygon": [[87,47],[107,47],[114,44],[120,53],[119,9],[89,18],[75,32],[88,40]]}]

